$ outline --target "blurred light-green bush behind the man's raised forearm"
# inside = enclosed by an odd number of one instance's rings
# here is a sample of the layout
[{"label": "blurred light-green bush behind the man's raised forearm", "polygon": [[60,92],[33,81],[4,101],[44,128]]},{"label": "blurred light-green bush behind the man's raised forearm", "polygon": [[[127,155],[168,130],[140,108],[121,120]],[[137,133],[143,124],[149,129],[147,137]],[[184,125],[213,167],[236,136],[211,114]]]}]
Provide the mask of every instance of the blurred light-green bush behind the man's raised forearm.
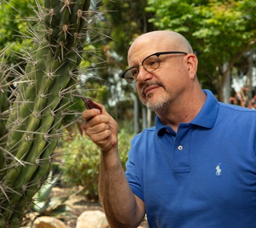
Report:
[{"label": "blurred light-green bush behind the man's raised forearm", "polygon": [[[130,140],[133,135],[121,129],[118,135],[120,160],[125,169]],[[59,150],[62,156],[62,184],[71,187],[82,185],[89,200],[98,201],[98,179],[101,151],[87,137],[76,135],[69,141],[62,141]]]}]

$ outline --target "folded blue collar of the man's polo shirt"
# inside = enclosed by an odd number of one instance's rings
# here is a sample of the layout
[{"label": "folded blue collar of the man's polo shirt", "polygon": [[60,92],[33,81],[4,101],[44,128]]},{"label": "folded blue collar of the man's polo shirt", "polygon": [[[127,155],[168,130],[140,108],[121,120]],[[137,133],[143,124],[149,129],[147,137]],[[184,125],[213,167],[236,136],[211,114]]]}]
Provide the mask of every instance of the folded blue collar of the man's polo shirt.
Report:
[{"label": "folded blue collar of the man's polo shirt", "polygon": [[[190,122],[203,128],[213,128],[218,113],[218,100],[210,90],[203,90],[206,93],[206,102],[197,116]],[[166,126],[162,124],[158,116],[155,117],[155,130],[158,134],[165,132]]]}]

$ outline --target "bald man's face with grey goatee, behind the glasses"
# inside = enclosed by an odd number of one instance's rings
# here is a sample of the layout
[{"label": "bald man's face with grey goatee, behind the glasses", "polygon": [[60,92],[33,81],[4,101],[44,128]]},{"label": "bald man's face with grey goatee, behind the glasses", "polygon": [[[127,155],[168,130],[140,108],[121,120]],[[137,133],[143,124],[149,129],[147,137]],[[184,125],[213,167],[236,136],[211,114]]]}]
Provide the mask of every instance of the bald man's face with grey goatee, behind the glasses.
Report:
[{"label": "bald man's face with grey goatee, behind the glasses", "polygon": [[[130,66],[141,65],[143,59],[154,52],[170,51],[159,47],[133,46],[130,50]],[[136,88],[140,100],[149,109],[155,112],[168,112],[172,100],[174,100],[184,88],[184,55],[160,55],[160,65],[152,72],[139,67],[139,75]]]}]

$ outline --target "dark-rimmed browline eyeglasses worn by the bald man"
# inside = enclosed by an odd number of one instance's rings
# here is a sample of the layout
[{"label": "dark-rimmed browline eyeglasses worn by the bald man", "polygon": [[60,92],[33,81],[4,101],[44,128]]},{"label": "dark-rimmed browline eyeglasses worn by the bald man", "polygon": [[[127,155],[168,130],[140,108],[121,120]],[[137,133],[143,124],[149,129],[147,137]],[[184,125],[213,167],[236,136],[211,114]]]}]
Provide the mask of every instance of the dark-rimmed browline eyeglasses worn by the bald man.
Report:
[{"label": "dark-rimmed browline eyeglasses worn by the bald man", "polygon": [[156,52],[152,55],[149,55],[142,61],[141,65],[134,66],[129,68],[128,70],[124,71],[121,74],[121,78],[124,78],[128,84],[133,84],[137,81],[137,77],[139,75],[139,67],[143,66],[143,68],[148,71],[152,72],[155,71],[160,66],[160,55],[168,55],[168,54],[184,54],[187,55],[186,52]]}]

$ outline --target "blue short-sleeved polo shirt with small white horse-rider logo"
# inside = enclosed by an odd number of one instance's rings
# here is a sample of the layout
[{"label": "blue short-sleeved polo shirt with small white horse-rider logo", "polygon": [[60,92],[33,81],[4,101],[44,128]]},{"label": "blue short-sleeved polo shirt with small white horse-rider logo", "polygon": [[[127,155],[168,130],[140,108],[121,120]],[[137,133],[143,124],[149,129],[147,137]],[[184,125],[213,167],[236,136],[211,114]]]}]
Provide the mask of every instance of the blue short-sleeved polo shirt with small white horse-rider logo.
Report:
[{"label": "blue short-sleeved polo shirt with small white horse-rider logo", "polygon": [[149,227],[256,227],[256,111],[206,103],[175,133],[158,117],[132,140],[126,178]]}]

